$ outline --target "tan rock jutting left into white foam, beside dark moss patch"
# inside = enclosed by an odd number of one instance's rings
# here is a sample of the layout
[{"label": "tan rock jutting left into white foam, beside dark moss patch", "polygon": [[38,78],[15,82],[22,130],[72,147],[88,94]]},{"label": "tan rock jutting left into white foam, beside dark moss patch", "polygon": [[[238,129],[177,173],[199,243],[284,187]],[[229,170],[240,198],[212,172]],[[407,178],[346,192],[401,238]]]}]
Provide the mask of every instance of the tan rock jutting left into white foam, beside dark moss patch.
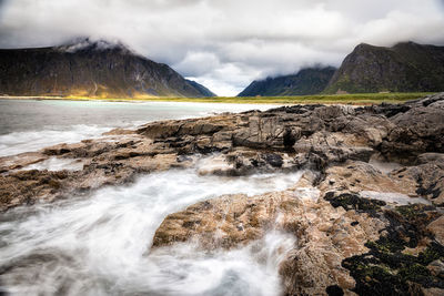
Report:
[{"label": "tan rock jutting left into white foam, beside dark moss patch", "polygon": [[[352,226],[352,222],[359,223]],[[167,216],[155,232],[153,247],[193,241],[206,249],[233,248],[261,238],[271,228],[290,232],[297,246],[280,267],[285,294],[315,295],[324,294],[330,285],[354,286],[341,262],[367,252],[364,243],[376,239],[383,226],[366,214],[345,213],[323,201],[299,196],[297,191],[225,195]]]}]

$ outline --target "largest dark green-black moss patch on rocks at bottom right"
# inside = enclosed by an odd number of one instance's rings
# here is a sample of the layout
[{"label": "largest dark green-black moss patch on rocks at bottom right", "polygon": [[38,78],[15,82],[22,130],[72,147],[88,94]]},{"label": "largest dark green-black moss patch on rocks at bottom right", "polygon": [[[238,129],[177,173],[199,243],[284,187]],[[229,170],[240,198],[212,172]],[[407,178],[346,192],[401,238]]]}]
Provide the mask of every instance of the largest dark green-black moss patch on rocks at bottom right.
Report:
[{"label": "largest dark green-black moss patch on rocks at bottom right", "polygon": [[[342,266],[356,280],[359,295],[417,295],[421,287],[444,288],[444,279],[431,274],[427,265],[444,259],[444,246],[433,242],[426,226],[440,214],[425,205],[397,206],[379,213],[389,221],[384,235],[367,242],[370,252],[345,258]],[[402,253],[418,242],[432,243],[417,256]]]}]

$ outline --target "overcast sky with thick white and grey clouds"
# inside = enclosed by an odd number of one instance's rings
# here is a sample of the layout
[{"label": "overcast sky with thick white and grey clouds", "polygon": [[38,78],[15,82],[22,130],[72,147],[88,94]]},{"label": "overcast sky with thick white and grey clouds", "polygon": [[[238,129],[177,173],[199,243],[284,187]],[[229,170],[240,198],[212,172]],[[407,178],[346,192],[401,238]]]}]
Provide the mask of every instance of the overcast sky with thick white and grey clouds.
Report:
[{"label": "overcast sky with thick white and grey clouds", "polygon": [[219,95],[341,65],[355,45],[444,45],[444,0],[0,0],[0,48],[119,40]]}]

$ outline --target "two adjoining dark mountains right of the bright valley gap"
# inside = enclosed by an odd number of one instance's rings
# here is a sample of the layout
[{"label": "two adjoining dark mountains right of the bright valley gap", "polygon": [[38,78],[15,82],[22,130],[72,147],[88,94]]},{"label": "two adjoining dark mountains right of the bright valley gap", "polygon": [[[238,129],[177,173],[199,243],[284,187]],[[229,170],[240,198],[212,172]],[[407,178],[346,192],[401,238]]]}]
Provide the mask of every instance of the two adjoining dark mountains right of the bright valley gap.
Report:
[{"label": "two adjoining dark mountains right of the bright valley gap", "polygon": [[296,74],[253,81],[239,96],[316,93],[444,91],[444,47],[397,43],[357,45],[340,69],[307,68]]}]

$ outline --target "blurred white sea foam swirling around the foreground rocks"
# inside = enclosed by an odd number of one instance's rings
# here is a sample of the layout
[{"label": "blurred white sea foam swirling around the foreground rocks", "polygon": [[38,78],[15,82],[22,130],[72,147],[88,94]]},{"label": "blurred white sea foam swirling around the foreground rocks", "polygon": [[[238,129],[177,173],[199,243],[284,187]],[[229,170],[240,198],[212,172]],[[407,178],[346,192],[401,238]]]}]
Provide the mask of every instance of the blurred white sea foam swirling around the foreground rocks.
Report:
[{"label": "blurred white sea foam swirling around the foreground rocks", "polygon": [[169,171],[88,198],[11,210],[0,216],[0,269],[11,267],[0,282],[17,295],[279,295],[278,265],[294,245],[286,234],[230,252],[180,244],[147,254],[168,214],[222,194],[285,190],[300,176]]}]

